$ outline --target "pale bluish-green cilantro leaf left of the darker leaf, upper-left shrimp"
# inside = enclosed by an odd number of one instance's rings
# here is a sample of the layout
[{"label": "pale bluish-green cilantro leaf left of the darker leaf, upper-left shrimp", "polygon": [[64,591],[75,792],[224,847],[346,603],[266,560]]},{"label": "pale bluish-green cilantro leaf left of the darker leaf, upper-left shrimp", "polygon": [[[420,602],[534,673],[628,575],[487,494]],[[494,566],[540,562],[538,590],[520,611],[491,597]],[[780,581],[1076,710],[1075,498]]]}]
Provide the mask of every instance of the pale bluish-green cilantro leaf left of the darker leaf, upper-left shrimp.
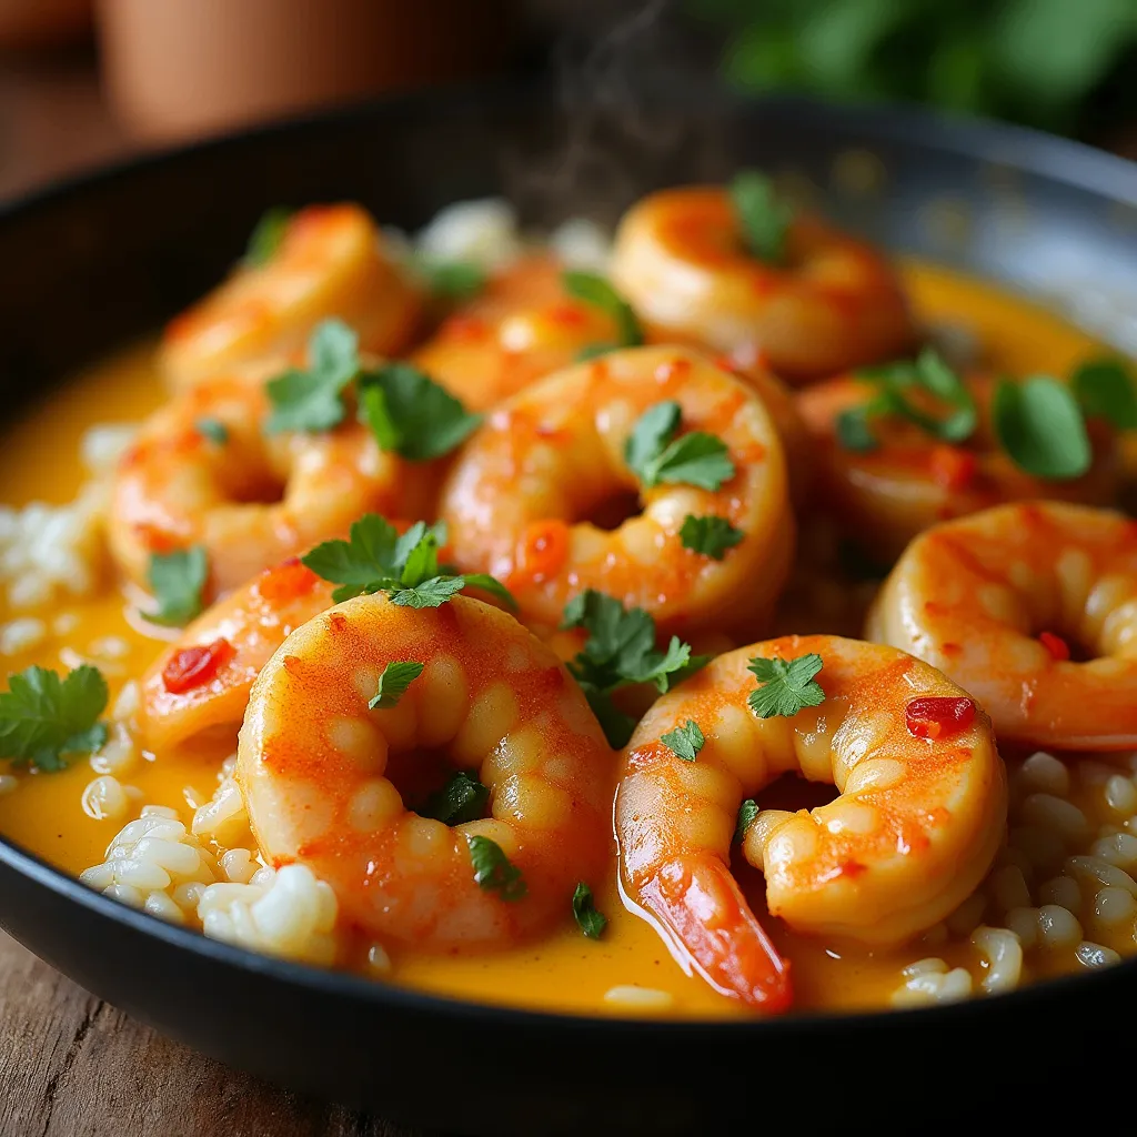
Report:
[{"label": "pale bluish-green cilantro leaf left of the darker leaf, upper-left shrimp", "polygon": [[272,414],[269,434],[315,433],[338,426],[346,414],[343,391],[359,374],[359,339],[342,319],[324,319],[308,340],[308,368],[290,367],[265,385]]}]

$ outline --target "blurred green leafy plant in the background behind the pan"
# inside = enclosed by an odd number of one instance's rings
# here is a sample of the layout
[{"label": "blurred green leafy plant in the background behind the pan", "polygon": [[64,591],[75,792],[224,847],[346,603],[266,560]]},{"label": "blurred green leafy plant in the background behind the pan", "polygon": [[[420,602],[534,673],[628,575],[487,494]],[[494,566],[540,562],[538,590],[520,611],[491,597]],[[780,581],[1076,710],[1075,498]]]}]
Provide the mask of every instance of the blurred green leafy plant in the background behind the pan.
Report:
[{"label": "blurred green leafy plant in the background behind the pan", "polygon": [[[1073,132],[1137,44],[1137,0],[687,0],[729,28],[727,78],[746,90],[905,99]],[[1112,80],[1112,83],[1111,83]],[[1124,101],[1128,107],[1118,106]]]}]

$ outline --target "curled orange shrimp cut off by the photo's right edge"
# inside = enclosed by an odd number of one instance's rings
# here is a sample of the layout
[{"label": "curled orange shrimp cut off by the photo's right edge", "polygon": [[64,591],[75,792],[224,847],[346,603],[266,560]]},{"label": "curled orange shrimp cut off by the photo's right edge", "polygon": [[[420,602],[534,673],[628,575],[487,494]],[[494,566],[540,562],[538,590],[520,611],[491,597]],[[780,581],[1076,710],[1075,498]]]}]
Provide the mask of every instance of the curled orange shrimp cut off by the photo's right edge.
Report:
[{"label": "curled orange shrimp cut off by the photo's right edge", "polygon": [[1038,501],[937,525],[897,562],[866,634],[965,687],[1001,741],[1131,749],[1137,522]]}]

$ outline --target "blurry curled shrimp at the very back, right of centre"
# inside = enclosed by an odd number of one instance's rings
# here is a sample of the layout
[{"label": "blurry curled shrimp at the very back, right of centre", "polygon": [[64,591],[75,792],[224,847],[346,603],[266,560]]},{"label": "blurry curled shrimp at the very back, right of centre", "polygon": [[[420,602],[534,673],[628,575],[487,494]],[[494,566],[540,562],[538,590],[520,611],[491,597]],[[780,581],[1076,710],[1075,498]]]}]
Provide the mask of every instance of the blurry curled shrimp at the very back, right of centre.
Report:
[{"label": "blurry curled shrimp at the very back, right of centre", "polygon": [[914,331],[885,257],[819,217],[789,226],[785,266],[742,247],[730,197],[663,190],[620,223],[612,277],[649,329],[754,351],[791,382],[903,352]]}]

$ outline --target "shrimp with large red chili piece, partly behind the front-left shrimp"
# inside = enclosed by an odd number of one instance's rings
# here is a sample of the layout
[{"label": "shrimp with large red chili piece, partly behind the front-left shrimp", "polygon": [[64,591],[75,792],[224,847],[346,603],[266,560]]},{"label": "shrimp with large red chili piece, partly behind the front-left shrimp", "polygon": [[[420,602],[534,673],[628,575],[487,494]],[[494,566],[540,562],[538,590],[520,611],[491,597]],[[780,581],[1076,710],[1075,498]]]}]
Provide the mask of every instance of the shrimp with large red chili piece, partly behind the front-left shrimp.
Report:
[{"label": "shrimp with large red chili piece, partly behind the front-left shrimp", "polygon": [[293,629],[331,607],[334,587],[290,557],[189,624],[142,679],[147,745],[165,749],[215,735],[235,740],[260,669]]}]

